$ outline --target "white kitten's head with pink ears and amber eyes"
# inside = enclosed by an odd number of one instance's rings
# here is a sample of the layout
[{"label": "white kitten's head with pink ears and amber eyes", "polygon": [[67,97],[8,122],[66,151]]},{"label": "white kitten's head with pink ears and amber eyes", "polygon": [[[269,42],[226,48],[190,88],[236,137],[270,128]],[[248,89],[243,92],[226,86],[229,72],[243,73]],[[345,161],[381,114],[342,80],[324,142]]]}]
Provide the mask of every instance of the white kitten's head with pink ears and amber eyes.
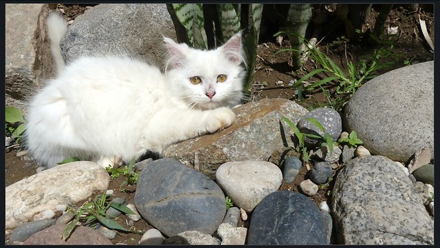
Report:
[{"label": "white kitten's head with pink ears and amber eyes", "polygon": [[243,97],[241,34],[216,50],[202,51],[166,39],[170,51],[170,90],[189,107],[201,110],[232,107]]}]

